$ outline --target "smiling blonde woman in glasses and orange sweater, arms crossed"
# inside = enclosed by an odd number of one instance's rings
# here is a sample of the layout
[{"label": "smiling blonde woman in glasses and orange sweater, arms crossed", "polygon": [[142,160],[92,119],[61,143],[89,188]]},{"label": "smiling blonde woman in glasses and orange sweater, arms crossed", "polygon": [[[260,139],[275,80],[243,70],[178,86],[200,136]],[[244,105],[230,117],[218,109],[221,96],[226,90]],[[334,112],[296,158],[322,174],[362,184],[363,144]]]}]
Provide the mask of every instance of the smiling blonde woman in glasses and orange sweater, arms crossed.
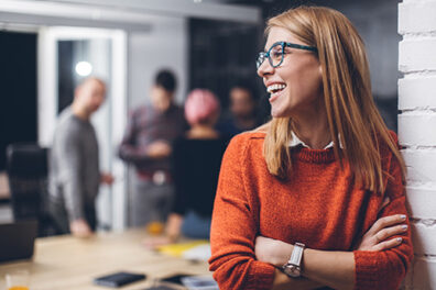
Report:
[{"label": "smiling blonde woman in glasses and orange sweater, arms crossed", "polygon": [[299,7],[266,35],[258,75],[273,119],[225,154],[215,279],[221,290],[397,289],[413,257],[404,165],[359,34],[338,11]]}]

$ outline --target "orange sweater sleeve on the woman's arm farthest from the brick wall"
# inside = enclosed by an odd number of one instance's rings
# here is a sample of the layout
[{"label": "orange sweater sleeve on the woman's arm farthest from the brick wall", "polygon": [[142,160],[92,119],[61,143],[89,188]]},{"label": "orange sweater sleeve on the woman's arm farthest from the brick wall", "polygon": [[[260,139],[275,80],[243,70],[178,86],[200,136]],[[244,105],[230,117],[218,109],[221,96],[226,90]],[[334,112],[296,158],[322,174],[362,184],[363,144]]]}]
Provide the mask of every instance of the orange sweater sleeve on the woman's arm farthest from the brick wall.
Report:
[{"label": "orange sweater sleeve on the woman's arm farthest from the brick wall", "polygon": [[274,267],[255,259],[257,220],[243,186],[247,140],[236,136],[221,164],[210,230],[210,270],[221,290],[271,289]]}]

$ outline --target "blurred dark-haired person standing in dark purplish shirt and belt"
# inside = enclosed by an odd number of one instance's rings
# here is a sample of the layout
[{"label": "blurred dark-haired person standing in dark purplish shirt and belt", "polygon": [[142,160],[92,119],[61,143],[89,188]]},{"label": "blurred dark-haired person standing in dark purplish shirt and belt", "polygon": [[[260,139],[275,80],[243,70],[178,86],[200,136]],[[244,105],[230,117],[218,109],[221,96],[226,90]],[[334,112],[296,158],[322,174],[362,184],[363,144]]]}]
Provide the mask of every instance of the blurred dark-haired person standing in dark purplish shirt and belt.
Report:
[{"label": "blurred dark-haired person standing in dark purplish shirt and belt", "polygon": [[120,158],[137,169],[135,190],[129,201],[132,226],[164,222],[172,207],[172,143],[186,129],[183,109],[174,103],[175,89],[173,72],[157,72],[151,104],[131,113],[119,148]]}]

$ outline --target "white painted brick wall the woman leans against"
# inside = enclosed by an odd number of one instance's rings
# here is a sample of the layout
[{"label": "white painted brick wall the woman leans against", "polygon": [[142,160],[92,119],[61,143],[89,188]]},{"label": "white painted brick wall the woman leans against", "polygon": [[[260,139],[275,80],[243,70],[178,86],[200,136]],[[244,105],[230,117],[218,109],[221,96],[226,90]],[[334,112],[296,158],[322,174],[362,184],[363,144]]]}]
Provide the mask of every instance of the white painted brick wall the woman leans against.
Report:
[{"label": "white painted brick wall the woman leans against", "polygon": [[415,260],[405,289],[436,289],[436,0],[399,4],[399,141]]}]

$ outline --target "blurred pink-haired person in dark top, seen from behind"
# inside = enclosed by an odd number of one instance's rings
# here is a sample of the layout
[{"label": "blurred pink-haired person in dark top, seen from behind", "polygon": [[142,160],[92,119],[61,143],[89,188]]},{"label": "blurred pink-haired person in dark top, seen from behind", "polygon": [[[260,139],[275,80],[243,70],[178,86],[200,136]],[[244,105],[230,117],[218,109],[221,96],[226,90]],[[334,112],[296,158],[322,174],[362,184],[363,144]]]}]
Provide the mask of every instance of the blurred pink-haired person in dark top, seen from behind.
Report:
[{"label": "blurred pink-haired person in dark top, seen from behind", "polygon": [[229,142],[229,136],[214,129],[219,113],[211,91],[195,89],[188,94],[185,118],[190,129],[173,145],[174,207],[165,235],[148,241],[148,246],[174,243],[181,235],[209,238],[219,168]]}]

